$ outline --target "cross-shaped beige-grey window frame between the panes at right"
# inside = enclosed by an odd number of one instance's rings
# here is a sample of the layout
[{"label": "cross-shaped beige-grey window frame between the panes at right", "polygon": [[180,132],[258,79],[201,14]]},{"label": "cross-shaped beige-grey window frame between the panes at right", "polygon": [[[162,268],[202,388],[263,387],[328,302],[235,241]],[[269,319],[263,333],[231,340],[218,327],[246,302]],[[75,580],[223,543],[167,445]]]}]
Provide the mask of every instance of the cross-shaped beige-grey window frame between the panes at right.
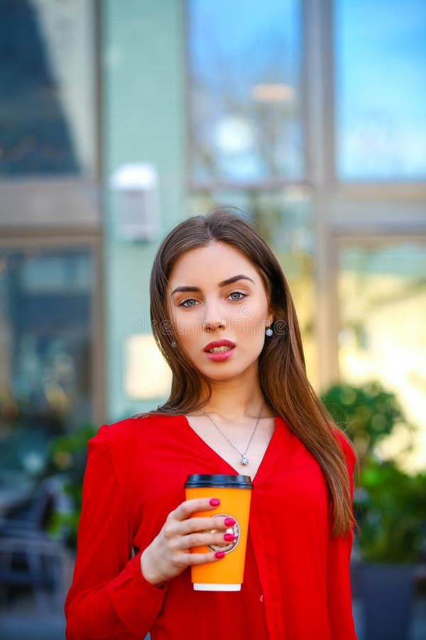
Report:
[{"label": "cross-shaped beige-grey window frame between the panes at right", "polygon": [[341,181],[336,171],[333,0],[301,0],[301,119],[305,177],[289,181],[192,181],[188,2],[185,18],[187,193],[251,191],[299,186],[310,194],[315,235],[317,379],[339,379],[337,242],[386,242],[426,233],[424,181]]}]

